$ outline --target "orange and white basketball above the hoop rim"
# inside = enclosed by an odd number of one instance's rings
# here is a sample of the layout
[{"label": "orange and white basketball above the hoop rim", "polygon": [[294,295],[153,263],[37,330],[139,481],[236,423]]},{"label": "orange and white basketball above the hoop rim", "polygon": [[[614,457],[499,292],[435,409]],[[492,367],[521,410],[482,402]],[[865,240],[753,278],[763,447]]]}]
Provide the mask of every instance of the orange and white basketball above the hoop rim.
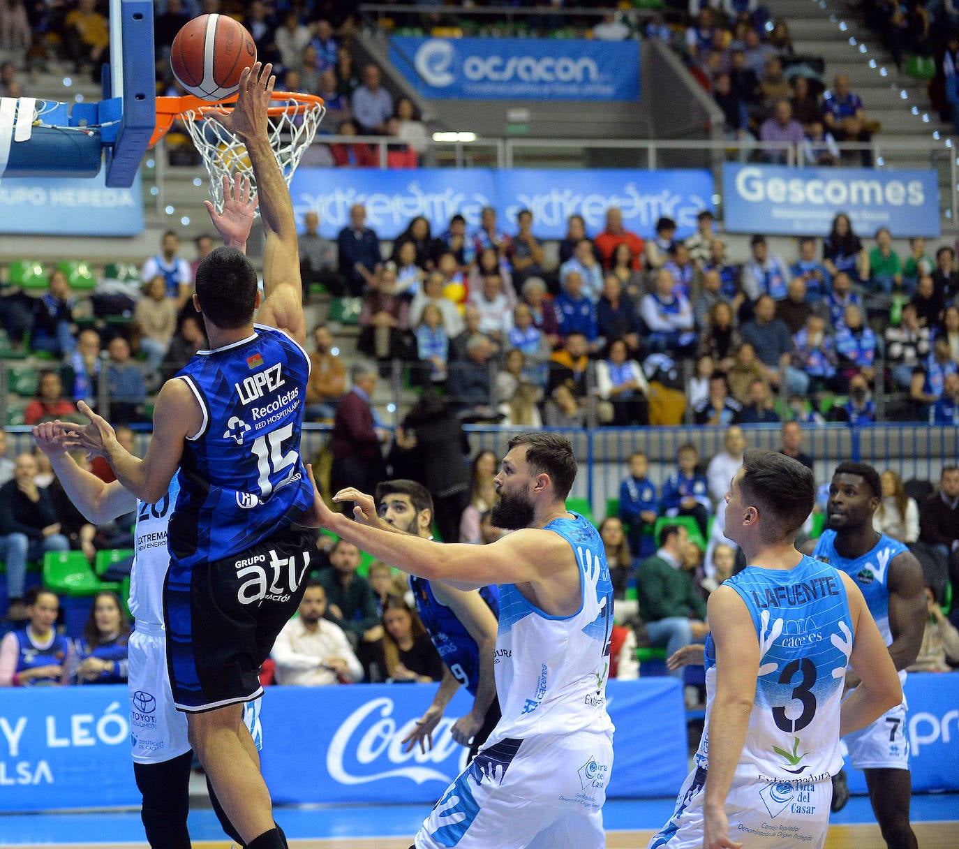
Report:
[{"label": "orange and white basketball above the hoop rim", "polygon": [[170,51],[176,80],[208,101],[235,94],[243,69],[255,61],[253,36],[225,14],[195,17],[176,34]]}]

